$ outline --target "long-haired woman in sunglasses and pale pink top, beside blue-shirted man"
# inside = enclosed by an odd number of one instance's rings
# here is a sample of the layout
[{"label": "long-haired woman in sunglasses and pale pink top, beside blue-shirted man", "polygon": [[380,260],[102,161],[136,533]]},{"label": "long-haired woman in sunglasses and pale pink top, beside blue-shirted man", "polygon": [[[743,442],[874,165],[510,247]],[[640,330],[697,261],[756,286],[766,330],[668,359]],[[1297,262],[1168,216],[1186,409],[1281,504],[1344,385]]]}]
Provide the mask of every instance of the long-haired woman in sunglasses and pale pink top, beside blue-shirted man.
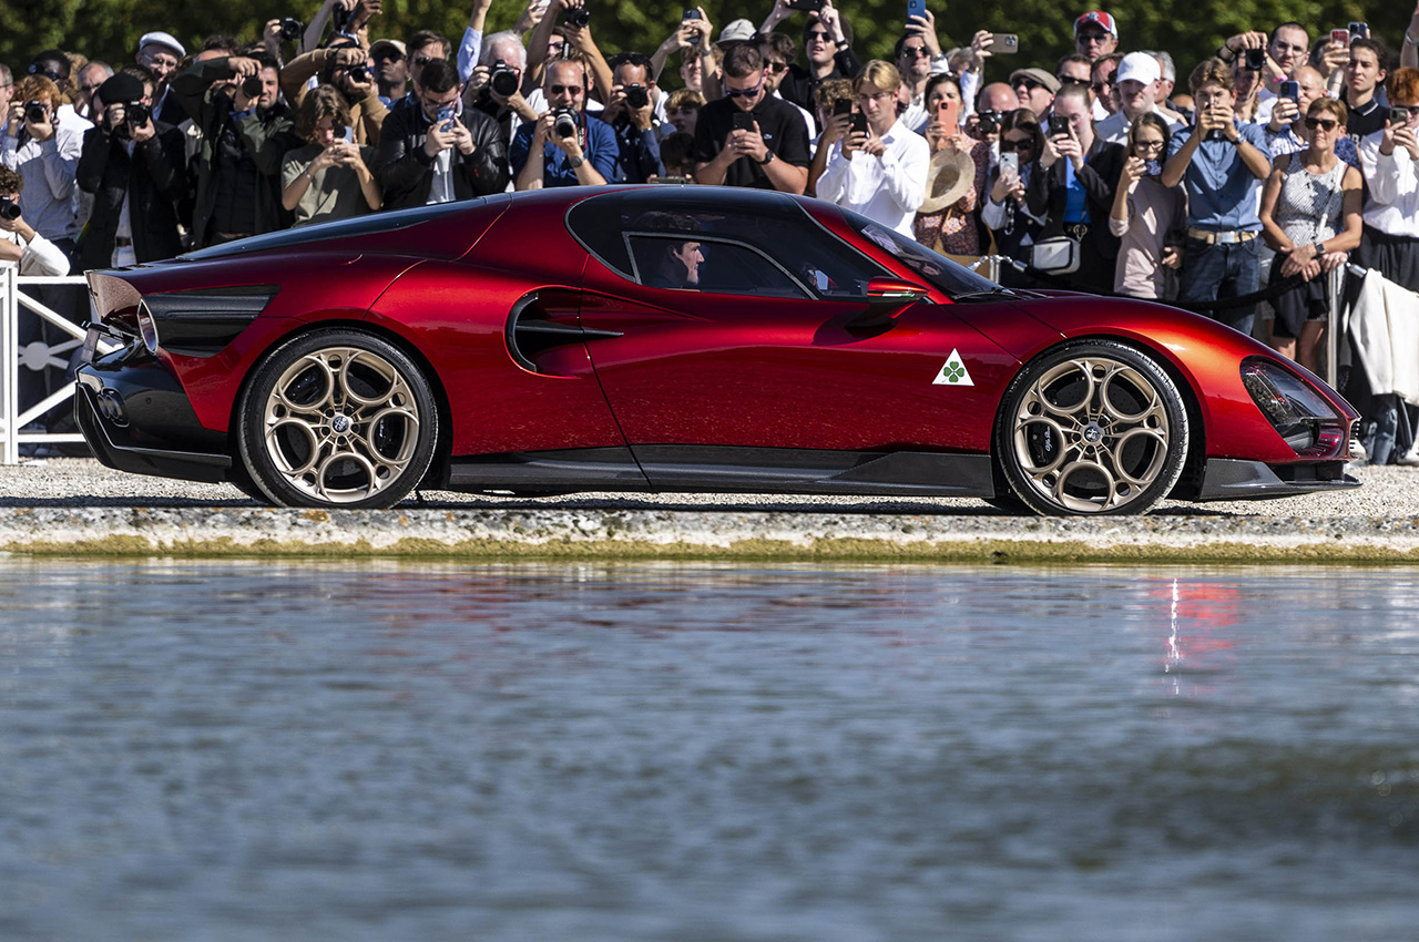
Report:
[{"label": "long-haired woman in sunglasses and pale pink top, beside blue-shirted man", "polygon": [[1182,265],[1168,237],[1182,226],[1186,197],[1181,186],[1159,180],[1171,133],[1168,122],[1151,112],[1139,115],[1128,129],[1128,157],[1108,214],[1108,231],[1120,240],[1114,294],[1162,298],[1165,270]]}]

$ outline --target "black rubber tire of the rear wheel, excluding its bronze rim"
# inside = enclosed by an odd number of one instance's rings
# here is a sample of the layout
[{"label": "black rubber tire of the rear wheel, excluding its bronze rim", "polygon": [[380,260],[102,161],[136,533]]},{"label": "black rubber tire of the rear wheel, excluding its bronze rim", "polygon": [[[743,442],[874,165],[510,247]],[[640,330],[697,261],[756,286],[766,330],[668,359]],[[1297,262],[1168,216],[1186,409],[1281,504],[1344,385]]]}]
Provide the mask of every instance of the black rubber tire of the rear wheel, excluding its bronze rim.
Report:
[{"label": "black rubber tire of the rear wheel, excluding its bronze rim", "polygon": [[[265,444],[265,403],[280,376],[302,356],[315,350],[348,346],[387,360],[407,383],[419,407],[419,438],[403,472],[390,484],[359,501],[326,502],[295,488],[275,467]],[[322,509],[379,509],[404,499],[423,480],[438,441],[438,409],[423,370],[389,340],[349,328],[322,328],[287,340],[267,353],[251,373],[237,407],[238,457],[255,487],[278,506]]]}]

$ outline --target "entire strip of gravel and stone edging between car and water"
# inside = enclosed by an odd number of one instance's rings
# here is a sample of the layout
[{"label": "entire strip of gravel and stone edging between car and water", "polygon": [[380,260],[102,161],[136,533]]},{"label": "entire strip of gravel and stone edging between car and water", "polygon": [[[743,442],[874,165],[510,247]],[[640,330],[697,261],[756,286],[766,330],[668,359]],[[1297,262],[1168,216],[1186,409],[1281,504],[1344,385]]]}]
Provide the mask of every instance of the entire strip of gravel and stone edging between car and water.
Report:
[{"label": "entire strip of gravel and stone edging between car and water", "polygon": [[0,468],[0,552],[1419,563],[1419,470],[1355,474],[1365,487],[1344,494],[1164,504],[1110,519],[1009,516],[966,499],[451,492],[326,514],[263,508],[228,485],[51,458]]}]

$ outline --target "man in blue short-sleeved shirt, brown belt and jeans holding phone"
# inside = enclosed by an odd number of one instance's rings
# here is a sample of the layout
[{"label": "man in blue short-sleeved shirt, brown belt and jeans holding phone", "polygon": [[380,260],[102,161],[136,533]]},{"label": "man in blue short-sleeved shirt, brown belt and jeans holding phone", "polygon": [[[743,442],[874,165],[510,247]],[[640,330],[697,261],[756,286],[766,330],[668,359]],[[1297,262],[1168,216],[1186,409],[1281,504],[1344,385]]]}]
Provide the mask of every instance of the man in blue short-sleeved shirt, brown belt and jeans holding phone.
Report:
[{"label": "man in blue short-sleeved shirt, brown belt and jeans holding phone", "polygon": [[[1172,136],[1162,184],[1188,189],[1188,240],[1179,301],[1218,301],[1256,292],[1261,281],[1257,194],[1271,172],[1266,131],[1233,116],[1232,67],[1210,58],[1192,71],[1198,122]],[[1252,333],[1256,305],[1212,316]]]}]

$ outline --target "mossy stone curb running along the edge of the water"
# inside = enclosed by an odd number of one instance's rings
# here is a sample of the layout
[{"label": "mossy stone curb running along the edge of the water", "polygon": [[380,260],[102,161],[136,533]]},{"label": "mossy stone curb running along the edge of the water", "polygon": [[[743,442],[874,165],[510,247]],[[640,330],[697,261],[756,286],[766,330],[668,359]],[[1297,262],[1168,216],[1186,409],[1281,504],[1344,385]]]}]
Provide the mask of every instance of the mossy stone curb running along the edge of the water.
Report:
[{"label": "mossy stone curb running along the edge of the water", "polygon": [[4,508],[61,556],[1419,563],[1419,516],[1009,516],[654,509]]}]

